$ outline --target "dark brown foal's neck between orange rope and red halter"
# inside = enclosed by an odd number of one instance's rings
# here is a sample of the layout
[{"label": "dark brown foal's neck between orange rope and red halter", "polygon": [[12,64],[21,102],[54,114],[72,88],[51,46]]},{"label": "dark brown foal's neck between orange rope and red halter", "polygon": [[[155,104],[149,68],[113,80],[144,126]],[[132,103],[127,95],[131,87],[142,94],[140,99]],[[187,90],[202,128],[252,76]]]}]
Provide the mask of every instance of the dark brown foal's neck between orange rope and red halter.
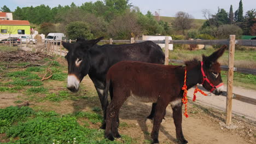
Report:
[{"label": "dark brown foal's neck between orange rope and red halter", "polygon": [[201,70],[199,65],[190,67],[187,69],[187,87],[188,89],[194,87],[197,83],[200,83],[201,80]]}]

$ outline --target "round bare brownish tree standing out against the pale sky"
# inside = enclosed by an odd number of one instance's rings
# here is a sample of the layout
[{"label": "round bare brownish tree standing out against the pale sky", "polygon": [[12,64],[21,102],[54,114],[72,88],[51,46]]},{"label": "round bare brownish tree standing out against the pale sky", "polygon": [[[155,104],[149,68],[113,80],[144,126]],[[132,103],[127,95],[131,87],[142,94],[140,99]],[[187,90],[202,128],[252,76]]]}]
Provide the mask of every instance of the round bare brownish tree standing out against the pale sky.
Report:
[{"label": "round bare brownish tree standing out against the pale sky", "polygon": [[179,11],[176,13],[175,17],[176,18],[172,22],[172,26],[178,31],[182,31],[184,33],[186,29],[191,28],[193,22],[192,15],[185,13],[184,11]]}]

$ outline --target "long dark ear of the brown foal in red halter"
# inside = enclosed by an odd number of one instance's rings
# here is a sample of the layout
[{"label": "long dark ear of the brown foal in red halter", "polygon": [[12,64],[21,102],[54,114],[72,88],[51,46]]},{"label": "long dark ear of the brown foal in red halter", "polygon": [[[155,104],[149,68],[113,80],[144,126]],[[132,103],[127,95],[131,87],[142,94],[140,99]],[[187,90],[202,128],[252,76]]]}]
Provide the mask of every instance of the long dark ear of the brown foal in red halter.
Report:
[{"label": "long dark ear of the brown foal in red halter", "polygon": [[205,65],[208,67],[211,67],[211,65],[215,62],[217,62],[217,59],[221,57],[226,49],[226,45],[223,45],[222,47],[219,48],[219,50],[215,51],[212,53],[212,55],[206,57],[205,55],[202,55],[203,62]]}]

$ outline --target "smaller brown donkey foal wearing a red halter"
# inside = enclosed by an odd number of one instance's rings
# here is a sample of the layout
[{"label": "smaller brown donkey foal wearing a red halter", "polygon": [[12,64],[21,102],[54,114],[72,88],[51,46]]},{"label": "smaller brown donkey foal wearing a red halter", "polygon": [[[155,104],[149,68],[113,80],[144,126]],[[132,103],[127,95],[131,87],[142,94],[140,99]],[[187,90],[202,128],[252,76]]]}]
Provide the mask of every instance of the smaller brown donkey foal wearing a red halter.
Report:
[{"label": "smaller brown donkey foal wearing a red halter", "polygon": [[[114,140],[119,138],[119,110],[125,100],[132,96],[138,100],[156,103],[153,130],[153,143],[159,143],[159,127],[168,104],[173,110],[176,127],[176,137],[180,143],[188,143],[182,133],[182,98],[184,74],[187,69],[188,89],[201,83],[208,91],[219,95],[223,91],[220,76],[220,64],[217,59],[223,55],[226,46],[202,56],[202,62],[197,59],[185,62],[185,67],[173,65],[149,64],[143,62],[123,61],[113,65],[107,74],[106,93],[109,85],[113,86],[113,99],[107,108],[107,125],[105,137]],[[166,86],[168,88],[166,88]]]}]

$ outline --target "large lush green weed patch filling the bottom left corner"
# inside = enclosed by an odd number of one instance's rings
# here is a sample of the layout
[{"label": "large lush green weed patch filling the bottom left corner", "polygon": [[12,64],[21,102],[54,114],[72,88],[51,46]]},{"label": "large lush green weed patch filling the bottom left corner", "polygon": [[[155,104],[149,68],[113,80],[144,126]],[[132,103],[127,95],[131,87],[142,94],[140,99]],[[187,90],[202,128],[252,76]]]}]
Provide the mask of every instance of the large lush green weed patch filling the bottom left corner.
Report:
[{"label": "large lush green weed patch filling the bottom left corner", "polygon": [[[104,130],[83,127],[79,117],[101,122],[96,113],[78,115],[59,115],[54,111],[35,112],[30,107],[10,106],[0,109],[0,133],[5,133],[10,143],[131,143],[133,140],[123,136],[125,142],[104,139]],[[7,144],[6,143],[6,144]]]}]

